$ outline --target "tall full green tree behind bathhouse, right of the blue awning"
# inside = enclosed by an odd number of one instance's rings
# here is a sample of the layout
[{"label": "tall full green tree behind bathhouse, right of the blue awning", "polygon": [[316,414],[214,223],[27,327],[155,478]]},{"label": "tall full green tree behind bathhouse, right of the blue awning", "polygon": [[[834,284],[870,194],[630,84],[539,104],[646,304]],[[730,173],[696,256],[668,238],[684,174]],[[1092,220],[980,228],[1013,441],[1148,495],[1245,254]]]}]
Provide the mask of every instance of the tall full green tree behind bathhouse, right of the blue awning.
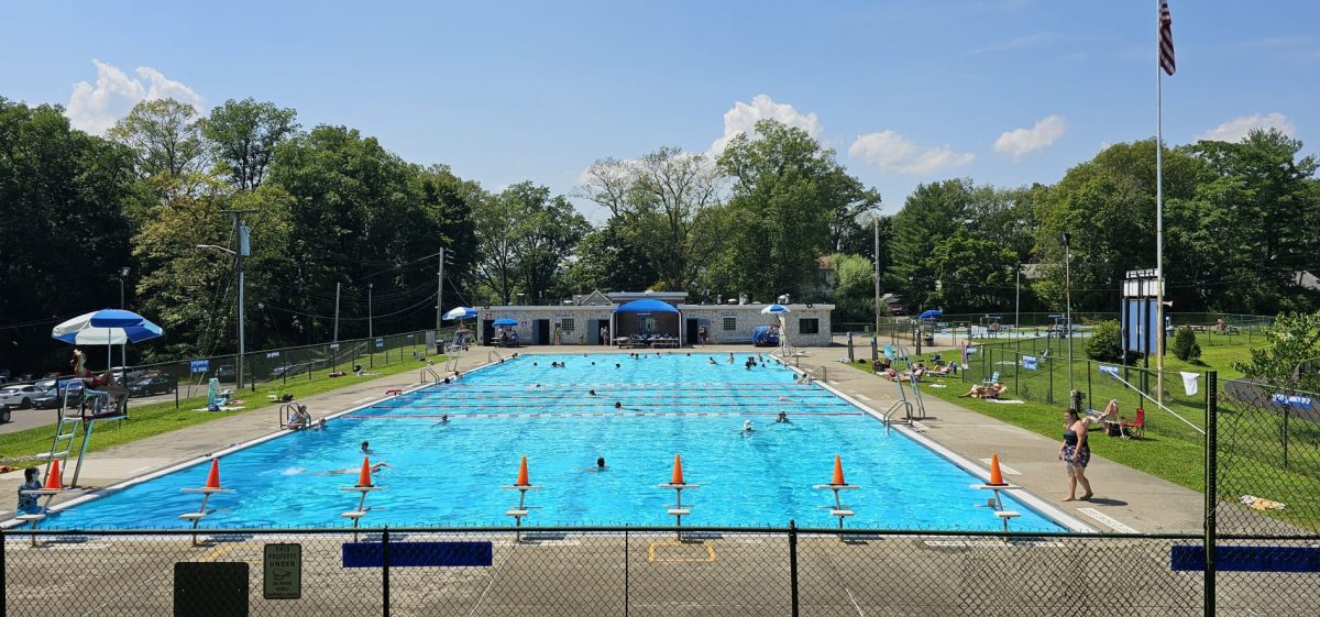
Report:
[{"label": "tall full green tree behind bathhouse, right of the blue awning", "polygon": [[774,120],[758,121],[755,136],[735,136],[718,165],[733,179],[730,207],[739,220],[723,229],[722,261],[743,270],[730,268],[723,277],[754,297],[816,289],[818,257],[834,252],[857,214],[879,204],[834,150]]}]

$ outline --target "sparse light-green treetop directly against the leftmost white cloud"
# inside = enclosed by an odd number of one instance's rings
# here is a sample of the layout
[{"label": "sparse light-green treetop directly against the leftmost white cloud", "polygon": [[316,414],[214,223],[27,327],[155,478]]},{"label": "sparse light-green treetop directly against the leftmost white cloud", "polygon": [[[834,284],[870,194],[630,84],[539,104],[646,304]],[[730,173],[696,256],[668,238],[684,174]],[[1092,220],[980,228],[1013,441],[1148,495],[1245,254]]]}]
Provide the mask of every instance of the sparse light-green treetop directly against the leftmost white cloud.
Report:
[{"label": "sparse light-green treetop directly against the leftmost white cloud", "polygon": [[197,108],[174,99],[144,100],[107,133],[136,156],[137,175],[181,178],[206,167]]}]

